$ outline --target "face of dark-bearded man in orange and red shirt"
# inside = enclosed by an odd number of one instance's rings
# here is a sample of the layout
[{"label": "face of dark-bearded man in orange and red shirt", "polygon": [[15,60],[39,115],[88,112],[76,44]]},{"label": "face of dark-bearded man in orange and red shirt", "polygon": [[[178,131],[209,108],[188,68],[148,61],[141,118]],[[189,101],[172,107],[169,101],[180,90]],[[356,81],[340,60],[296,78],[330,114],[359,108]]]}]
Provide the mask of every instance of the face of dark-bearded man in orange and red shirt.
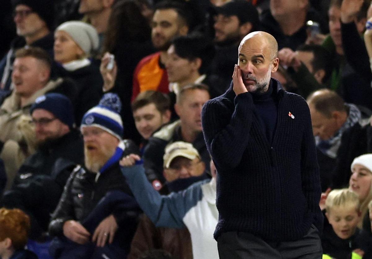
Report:
[{"label": "face of dark-bearded man in orange and red shirt", "polygon": [[158,50],[167,50],[171,40],[179,35],[180,22],[173,9],[156,10],[151,22],[151,40]]}]

